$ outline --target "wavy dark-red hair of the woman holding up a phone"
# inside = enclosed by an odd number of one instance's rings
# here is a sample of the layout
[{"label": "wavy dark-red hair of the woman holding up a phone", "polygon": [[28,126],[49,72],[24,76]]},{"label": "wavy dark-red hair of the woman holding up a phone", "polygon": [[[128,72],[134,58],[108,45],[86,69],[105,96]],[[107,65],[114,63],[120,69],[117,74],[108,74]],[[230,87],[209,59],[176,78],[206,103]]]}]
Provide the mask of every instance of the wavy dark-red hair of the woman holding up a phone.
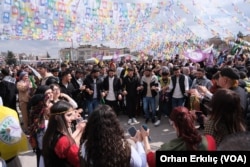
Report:
[{"label": "wavy dark-red hair of the woman holding up a phone", "polygon": [[194,126],[195,116],[183,106],[175,107],[170,114],[178,130],[178,137],[181,137],[188,150],[198,150],[202,137]]}]

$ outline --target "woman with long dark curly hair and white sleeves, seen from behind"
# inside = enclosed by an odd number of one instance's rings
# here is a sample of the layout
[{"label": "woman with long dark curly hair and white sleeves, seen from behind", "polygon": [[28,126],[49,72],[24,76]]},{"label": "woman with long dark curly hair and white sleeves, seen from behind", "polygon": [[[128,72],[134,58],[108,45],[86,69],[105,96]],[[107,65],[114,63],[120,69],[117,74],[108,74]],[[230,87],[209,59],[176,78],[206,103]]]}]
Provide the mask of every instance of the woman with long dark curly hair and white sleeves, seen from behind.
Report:
[{"label": "woman with long dark curly hair and white sleeves, seen from behind", "polygon": [[124,130],[113,109],[108,105],[97,106],[89,116],[82,135],[79,153],[81,166],[145,167],[146,154],[138,133],[135,128],[130,132],[134,135],[135,147],[125,139]]}]

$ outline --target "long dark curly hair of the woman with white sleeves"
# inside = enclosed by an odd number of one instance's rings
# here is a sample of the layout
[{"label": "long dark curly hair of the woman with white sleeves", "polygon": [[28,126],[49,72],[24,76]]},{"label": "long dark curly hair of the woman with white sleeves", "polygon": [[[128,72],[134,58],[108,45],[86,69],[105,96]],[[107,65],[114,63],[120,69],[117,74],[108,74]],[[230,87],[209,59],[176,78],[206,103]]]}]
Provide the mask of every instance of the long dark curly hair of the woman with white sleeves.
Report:
[{"label": "long dark curly hair of the woman with white sleeves", "polygon": [[86,166],[130,166],[130,145],[115,112],[99,105],[91,113],[82,137],[86,147]]}]

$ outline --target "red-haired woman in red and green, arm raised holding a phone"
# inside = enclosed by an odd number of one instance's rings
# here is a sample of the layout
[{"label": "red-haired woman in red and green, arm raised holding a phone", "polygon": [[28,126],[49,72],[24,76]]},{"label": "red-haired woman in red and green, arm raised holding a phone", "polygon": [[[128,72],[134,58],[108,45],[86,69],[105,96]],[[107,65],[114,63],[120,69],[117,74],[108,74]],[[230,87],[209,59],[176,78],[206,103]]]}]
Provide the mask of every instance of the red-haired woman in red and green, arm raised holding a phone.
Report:
[{"label": "red-haired woman in red and green, arm raised holding a phone", "polygon": [[[170,114],[177,137],[160,147],[160,151],[215,151],[216,142],[211,135],[201,135],[195,128],[195,115],[186,107],[175,107]],[[141,128],[144,149],[149,167],[156,166],[155,152],[151,150],[149,129]]]}]

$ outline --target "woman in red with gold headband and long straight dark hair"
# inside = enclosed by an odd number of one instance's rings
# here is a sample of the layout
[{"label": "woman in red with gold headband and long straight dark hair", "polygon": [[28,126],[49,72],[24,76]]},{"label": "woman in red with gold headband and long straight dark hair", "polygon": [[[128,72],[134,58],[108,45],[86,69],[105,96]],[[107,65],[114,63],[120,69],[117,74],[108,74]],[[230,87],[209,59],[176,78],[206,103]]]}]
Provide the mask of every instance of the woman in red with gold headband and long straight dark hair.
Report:
[{"label": "woman in red with gold headband and long straight dark hair", "polygon": [[43,157],[46,167],[80,167],[78,152],[81,134],[86,122],[79,122],[74,133],[70,132],[75,110],[69,102],[60,100],[50,109],[48,128],[43,137]]}]

